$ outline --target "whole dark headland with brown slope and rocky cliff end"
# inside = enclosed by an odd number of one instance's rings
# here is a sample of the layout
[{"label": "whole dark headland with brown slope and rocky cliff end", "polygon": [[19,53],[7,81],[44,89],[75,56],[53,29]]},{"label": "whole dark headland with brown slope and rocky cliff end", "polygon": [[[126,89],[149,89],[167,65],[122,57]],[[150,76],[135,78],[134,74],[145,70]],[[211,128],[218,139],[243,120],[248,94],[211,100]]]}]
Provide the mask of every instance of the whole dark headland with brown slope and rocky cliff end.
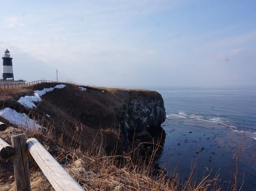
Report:
[{"label": "whole dark headland with brown slope and rocky cliff end", "polygon": [[[34,91],[56,85],[42,83],[6,92],[0,95],[0,109],[10,107],[24,112],[30,118],[39,119],[37,121],[42,126],[51,128],[67,141],[73,141],[75,137],[84,147],[100,144],[103,138],[108,153],[113,150],[128,152],[134,142],[140,144],[160,138],[163,142],[165,134],[161,124],[166,113],[162,96],[155,91],[81,88],[65,83],[66,87],[42,95],[42,101],[35,102],[34,108],[18,102],[21,96],[31,96]],[[140,148],[144,150],[143,146]]]}]

